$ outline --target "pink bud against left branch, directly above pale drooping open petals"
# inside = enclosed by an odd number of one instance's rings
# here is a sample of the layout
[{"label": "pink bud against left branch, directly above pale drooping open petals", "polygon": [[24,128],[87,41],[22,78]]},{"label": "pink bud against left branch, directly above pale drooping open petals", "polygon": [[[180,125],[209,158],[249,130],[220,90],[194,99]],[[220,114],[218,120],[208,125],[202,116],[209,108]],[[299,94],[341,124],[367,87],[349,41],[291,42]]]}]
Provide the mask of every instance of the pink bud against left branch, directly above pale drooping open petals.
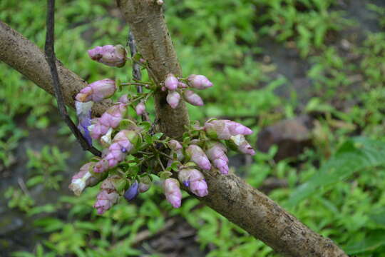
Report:
[{"label": "pink bud against left branch, directly above pale drooping open petals", "polygon": [[112,79],[102,79],[89,84],[84,89],[81,89],[81,91],[76,95],[76,100],[81,102],[94,101],[97,103],[112,96],[115,91],[115,81]]}]

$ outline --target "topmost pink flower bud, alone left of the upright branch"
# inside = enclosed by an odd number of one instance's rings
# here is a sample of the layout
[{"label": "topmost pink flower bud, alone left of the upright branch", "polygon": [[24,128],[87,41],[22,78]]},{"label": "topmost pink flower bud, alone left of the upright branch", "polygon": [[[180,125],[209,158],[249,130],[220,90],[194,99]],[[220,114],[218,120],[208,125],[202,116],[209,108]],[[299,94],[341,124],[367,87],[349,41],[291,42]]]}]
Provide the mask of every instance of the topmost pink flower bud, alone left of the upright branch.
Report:
[{"label": "topmost pink flower bud, alone left of the upright branch", "polygon": [[96,46],[96,48],[88,50],[88,55],[94,61],[98,61],[108,66],[122,67],[125,64],[127,52],[121,45]]}]

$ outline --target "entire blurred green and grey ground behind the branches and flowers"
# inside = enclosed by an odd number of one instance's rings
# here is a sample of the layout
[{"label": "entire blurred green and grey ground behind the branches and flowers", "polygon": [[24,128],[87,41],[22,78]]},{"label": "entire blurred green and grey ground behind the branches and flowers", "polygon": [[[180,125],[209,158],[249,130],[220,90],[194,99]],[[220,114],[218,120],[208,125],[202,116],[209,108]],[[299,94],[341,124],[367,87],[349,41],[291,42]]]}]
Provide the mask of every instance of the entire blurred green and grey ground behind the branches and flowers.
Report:
[{"label": "entire blurred green and grey ground behind the branches and flowers", "polygon": [[[45,0],[0,1],[41,49],[45,17]],[[165,19],[184,75],[215,84],[191,119],[255,131],[232,171],[352,256],[385,256],[385,1],[165,0]],[[86,54],[127,37],[114,1],[56,1],[56,56],[86,81],[130,77]],[[279,256],[187,193],[96,215],[98,186],[68,190],[89,157],[53,97],[0,63],[0,256]]]}]

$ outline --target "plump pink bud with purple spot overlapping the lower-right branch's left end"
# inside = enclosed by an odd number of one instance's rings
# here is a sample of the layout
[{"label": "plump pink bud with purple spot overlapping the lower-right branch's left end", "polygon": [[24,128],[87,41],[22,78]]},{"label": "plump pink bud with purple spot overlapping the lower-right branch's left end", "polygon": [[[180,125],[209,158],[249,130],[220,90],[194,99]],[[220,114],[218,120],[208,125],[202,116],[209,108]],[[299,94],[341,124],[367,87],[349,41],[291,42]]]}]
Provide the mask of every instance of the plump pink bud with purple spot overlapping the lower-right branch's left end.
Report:
[{"label": "plump pink bud with purple spot overlapping the lower-right branch's left end", "polygon": [[195,168],[186,168],[178,172],[179,181],[188,186],[196,196],[207,196],[207,183],[203,174]]}]

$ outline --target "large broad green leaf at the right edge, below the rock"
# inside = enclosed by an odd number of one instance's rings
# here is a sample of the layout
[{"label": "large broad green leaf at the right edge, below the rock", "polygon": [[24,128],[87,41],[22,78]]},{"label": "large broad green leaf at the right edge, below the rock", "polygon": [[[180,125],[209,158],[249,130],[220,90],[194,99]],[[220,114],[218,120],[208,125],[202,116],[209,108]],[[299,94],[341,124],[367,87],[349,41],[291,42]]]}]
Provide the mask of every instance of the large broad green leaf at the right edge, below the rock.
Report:
[{"label": "large broad green leaf at the right edge, below the rock", "polygon": [[345,142],[335,155],[322,165],[320,170],[295,189],[288,206],[300,201],[327,186],[348,178],[352,173],[385,164],[385,143],[369,138],[357,137]]}]

